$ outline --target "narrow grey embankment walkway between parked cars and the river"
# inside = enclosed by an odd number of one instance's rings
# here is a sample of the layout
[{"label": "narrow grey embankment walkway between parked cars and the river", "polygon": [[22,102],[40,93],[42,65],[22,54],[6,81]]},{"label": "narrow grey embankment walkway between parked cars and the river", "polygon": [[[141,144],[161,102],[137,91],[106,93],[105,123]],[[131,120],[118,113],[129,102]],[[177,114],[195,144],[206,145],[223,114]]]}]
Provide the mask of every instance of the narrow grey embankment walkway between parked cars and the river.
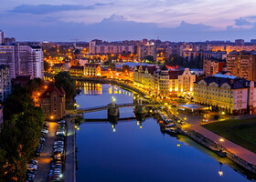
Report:
[{"label": "narrow grey embankment walkway between parked cars and the river", "polygon": [[70,119],[65,119],[67,122],[67,146],[66,146],[66,164],[65,177],[66,182],[76,181],[76,166],[75,166],[75,124]]}]

